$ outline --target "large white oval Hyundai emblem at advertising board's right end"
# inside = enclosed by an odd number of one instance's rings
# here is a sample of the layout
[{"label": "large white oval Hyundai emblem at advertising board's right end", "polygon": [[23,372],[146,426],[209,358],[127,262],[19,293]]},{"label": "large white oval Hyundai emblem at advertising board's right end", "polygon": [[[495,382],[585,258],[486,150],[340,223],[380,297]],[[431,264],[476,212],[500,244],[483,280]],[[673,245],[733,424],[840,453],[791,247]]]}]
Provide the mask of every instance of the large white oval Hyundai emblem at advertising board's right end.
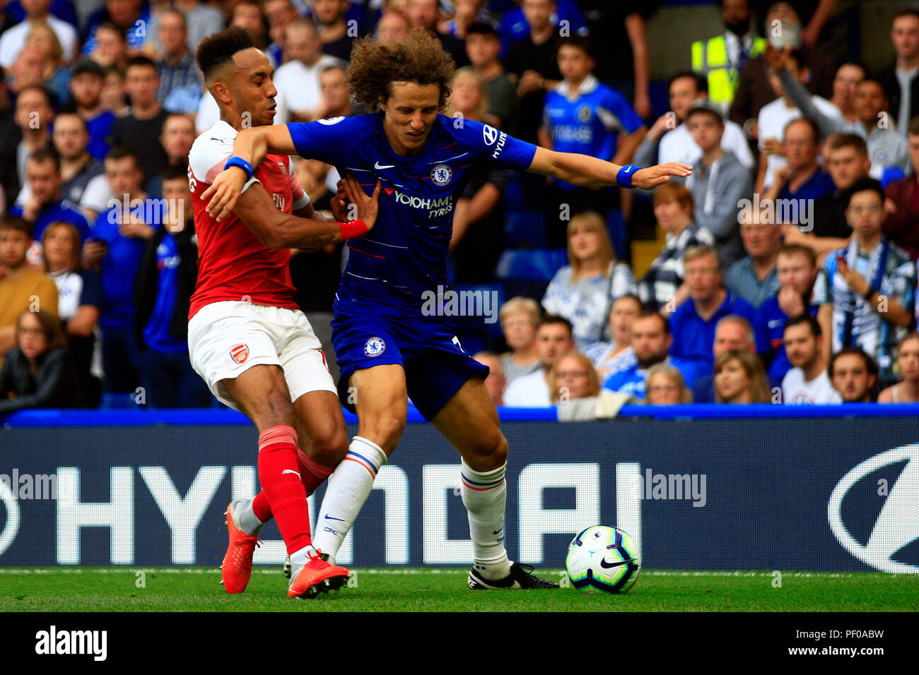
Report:
[{"label": "large white oval Hyundai emblem at advertising board's right end", "polygon": [[[894,482],[871,528],[868,541],[862,546],[843,523],[842,505],[845,495],[868,474],[903,461],[908,463]],[[919,572],[919,567],[891,560],[891,556],[903,546],[919,539],[919,444],[902,445],[869,457],[845,474],[830,495],[826,515],[830,529],[839,543],[862,562],[882,572]]]}]

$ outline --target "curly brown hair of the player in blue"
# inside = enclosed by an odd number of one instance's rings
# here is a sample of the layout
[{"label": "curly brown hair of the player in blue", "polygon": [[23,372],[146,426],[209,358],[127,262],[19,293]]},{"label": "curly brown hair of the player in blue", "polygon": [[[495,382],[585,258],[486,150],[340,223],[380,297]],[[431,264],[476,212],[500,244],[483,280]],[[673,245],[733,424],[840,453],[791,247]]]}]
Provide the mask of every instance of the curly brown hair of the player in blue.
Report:
[{"label": "curly brown hair of the player in blue", "polygon": [[358,40],[351,51],[345,83],[351,98],[371,110],[379,109],[380,99],[385,101],[392,96],[393,82],[437,84],[437,105],[443,109],[447,107],[455,70],[456,63],[441,47],[440,40],[424,28],[412,28],[398,42],[373,41],[370,37]]}]

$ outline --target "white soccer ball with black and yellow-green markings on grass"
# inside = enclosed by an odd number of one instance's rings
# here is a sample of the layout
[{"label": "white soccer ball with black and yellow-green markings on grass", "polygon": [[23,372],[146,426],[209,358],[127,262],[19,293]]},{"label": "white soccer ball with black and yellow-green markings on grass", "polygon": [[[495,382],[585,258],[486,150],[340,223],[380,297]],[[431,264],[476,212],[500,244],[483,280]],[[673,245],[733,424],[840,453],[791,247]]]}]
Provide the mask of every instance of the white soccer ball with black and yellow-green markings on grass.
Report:
[{"label": "white soccer ball with black and yellow-green markings on grass", "polygon": [[568,546],[565,568],[572,585],[586,593],[624,593],[638,579],[641,561],[629,534],[595,525]]}]

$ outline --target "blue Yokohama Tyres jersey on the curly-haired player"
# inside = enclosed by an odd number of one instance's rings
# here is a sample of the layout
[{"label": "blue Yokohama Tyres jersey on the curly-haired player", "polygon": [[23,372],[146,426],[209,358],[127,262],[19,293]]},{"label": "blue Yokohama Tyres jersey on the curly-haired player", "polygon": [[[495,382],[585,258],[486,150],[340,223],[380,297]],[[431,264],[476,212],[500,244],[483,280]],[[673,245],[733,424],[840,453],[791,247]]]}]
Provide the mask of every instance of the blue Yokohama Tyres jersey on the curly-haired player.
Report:
[{"label": "blue Yokohama Tyres jersey on the curly-haired player", "polygon": [[353,174],[365,192],[380,180],[380,212],[373,230],[348,242],[339,300],[414,306],[425,290],[446,283],[447,252],[456,201],[471,172],[482,167],[526,170],[536,146],[469,119],[438,115],[425,146],[396,154],[383,114],[288,124],[302,157]]}]

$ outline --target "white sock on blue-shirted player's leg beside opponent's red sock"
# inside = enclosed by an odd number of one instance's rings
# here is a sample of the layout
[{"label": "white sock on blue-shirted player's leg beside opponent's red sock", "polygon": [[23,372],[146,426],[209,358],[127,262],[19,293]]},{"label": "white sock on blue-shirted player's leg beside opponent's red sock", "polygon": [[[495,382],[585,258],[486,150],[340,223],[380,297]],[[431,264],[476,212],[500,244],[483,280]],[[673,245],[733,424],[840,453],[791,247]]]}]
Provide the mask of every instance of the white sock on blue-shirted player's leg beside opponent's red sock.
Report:
[{"label": "white sock on blue-shirted player's leg beside opponent's red sock", "polygon": [[386,453],[380,445],[355,436],[347,455],[329,477],[312,537],[312,545],[328,555],[329,562],[335,563],[335,554],[370,496],[373,479],[384,464]]}]

